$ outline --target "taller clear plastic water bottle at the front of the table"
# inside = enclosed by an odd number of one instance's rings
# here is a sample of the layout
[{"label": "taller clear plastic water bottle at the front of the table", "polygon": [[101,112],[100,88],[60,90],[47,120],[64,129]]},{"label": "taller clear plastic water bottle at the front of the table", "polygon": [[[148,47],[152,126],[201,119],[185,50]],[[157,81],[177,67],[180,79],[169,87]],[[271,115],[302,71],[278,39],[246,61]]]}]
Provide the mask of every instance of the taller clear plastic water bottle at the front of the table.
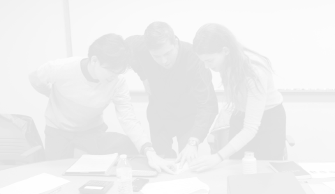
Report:
[{"label": "taller clear plastic water bottle at the front of the table", "polygon": [[127,160],[126,155],[121,155],[119,163],[117,163],[117,192],[119,194],[132,194],[132,181],[131,163]]}]

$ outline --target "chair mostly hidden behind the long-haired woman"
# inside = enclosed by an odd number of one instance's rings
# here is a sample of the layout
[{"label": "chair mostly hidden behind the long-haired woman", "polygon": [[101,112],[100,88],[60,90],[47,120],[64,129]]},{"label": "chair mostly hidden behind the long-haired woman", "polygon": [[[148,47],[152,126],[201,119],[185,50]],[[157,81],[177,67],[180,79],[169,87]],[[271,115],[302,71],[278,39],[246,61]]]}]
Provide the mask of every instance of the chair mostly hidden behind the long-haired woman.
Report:
[{"label": "chair mostly hidden behind the long-haired woman", "polygon": [[[229,126],[219,127],[211,130],[207,136],[207,142],[211,148],[211,154],[215,154],[222,149],[229,142]],[[295,140],[291,136],[286,136],[286,143],[293,147]],[[284,148],[283,160],[288,160],[288,149],[287,146]]]}]

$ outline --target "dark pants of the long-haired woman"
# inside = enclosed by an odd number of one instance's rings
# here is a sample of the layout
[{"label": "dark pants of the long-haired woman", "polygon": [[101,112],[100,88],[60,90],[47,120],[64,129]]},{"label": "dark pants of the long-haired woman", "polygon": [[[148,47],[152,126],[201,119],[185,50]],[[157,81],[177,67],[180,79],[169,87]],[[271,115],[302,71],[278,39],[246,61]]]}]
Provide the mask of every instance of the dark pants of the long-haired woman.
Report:
[{"label": "dark pants of the long-haired woman", "polygon": [[[230,118],[229,139],[241,131],[244,125],[244,113]],[[264,111],[256,136],[242,149],[230,156],[230,159],[242,159],[244,152],[254,152],[259,160],[283,160],[286,138],[286,113],[282,104]]]}]

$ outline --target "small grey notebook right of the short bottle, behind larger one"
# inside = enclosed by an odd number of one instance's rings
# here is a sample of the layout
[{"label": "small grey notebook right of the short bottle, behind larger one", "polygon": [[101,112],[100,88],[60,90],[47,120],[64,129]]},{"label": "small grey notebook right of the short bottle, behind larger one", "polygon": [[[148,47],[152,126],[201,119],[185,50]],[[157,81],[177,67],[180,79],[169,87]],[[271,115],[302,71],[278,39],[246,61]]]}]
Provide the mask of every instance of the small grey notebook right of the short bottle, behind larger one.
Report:
[{"label": "small grey notebook right of the short bottle, behind larger one", "polygon": [[269,162],[275,172],[292,172],[297,179],[311,179],[311,175],[294,161]]}]

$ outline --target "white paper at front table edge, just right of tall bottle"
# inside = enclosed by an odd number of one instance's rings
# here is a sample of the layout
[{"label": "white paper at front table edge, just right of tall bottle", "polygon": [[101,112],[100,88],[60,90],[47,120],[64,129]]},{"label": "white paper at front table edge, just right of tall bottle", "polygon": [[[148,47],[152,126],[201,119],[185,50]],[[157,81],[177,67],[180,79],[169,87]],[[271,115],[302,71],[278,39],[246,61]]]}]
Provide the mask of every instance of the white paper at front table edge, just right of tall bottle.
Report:
[{"label": "white paper at front table edge, just right of tall bottle", "polygon": [[203,191],[202,193],[209,193],[209,186],[197,177],[193,177],[146,184],[141,192],[144,194],[190,194],[200,190]]}]

